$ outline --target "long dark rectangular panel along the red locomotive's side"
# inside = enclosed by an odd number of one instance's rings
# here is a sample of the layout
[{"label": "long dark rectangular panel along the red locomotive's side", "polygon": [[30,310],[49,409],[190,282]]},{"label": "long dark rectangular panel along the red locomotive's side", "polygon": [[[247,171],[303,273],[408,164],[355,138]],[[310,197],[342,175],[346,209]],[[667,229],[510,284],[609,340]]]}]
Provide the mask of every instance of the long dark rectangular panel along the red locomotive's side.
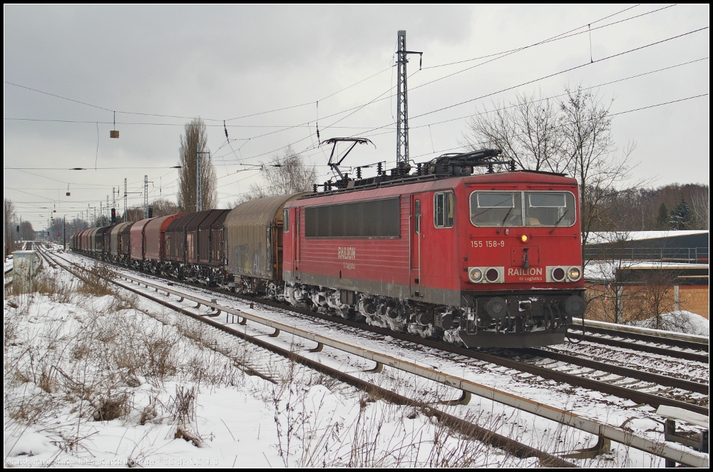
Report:
[{"label": "long dark rectangular panel along the red locomotive's side", "polygon": [[399,197],[304,209],[306,237],[399,237]]}]

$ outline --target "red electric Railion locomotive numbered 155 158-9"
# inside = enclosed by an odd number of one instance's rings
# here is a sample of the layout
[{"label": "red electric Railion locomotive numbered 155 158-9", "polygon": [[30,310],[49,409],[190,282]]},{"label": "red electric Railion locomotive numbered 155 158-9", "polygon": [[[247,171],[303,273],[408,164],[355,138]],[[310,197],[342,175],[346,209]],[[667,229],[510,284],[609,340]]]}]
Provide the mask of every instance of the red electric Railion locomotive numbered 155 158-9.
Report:
[{"label": "red electric Railion locomotive numbered 155 158-9", "polygon": [[416,175],[344,178],[287,202],[284,299],[467,347],[562,343],[585,309],[578,184],[493,173],[499,153],[443,155]]}]

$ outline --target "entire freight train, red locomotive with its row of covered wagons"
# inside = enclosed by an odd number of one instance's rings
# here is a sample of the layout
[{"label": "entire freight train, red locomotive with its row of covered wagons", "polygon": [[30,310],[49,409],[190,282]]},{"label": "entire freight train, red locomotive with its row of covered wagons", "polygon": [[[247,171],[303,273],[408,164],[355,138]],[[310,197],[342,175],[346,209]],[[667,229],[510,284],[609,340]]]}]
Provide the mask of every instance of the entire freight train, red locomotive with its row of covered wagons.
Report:
[{"label": "entire freight train, red locomotive with its row of covered wagons", "polygon": [[71,245],[451,344],[560,344],[585,309],[577,181],[514,165],[494,172],[499,153],[446,154],[415,172],[343,176],[320,192],[93,228]]}]

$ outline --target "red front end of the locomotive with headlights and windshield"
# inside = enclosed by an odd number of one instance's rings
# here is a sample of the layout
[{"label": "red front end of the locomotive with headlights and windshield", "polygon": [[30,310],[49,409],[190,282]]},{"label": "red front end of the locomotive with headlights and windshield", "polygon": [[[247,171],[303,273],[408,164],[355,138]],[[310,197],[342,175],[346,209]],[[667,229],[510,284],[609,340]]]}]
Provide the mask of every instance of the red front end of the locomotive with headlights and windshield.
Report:
[{"label": "red front end of the locomotive with headlights and windshield", "polygon": [[561,175],[508,177],[457,192],[468,221],[458,230],[461,307],[436,326],[468,347],[560,344],[585,310],[578,187]]}]

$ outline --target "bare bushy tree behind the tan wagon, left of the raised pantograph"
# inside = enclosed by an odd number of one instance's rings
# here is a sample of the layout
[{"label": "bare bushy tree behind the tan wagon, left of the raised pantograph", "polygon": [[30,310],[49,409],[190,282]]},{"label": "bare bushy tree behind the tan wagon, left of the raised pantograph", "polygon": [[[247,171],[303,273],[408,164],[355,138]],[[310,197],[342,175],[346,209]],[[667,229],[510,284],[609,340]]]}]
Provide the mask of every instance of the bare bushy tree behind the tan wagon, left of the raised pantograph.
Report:
[{"label": "bare bushy tree behind the tan wagon, left of the raised pantograph", "polygon": [[305,165],[302,156],[295,153],[290,146],[287,146],[282,155],[274,155],[269,162],[260,164],[262,183],[250,185],[250,190],[238,196],[230,207],[256,198],[309,192],[317,182],[314,165]]}]

